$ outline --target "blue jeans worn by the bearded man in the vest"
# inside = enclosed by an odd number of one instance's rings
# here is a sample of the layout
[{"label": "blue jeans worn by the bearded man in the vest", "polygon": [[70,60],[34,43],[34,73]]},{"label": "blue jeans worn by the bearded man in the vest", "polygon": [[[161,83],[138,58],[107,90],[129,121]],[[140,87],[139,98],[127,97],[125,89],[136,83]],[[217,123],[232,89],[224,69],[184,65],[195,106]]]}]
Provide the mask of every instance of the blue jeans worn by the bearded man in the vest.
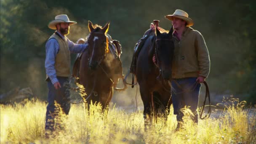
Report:
[{"label": "blue jeans worn by the bearded man in the vest", "polygon": [[[68,77],[57,77],[59,83],[61,84],[61,88],[56,90],[51,83],[51,80],[48,80],[48,105],[46,110],[45,117],[45,131],[48,130],[54,131],[55,121],[54,118],[58,115],[58,111],[56,111],[56,107],[54,105],[54,101],[60,104],[62,111],[64,114],[69,114],[70,109],[70,85],[68,81]],[[56,123],[57,125],[57,123]]]}]

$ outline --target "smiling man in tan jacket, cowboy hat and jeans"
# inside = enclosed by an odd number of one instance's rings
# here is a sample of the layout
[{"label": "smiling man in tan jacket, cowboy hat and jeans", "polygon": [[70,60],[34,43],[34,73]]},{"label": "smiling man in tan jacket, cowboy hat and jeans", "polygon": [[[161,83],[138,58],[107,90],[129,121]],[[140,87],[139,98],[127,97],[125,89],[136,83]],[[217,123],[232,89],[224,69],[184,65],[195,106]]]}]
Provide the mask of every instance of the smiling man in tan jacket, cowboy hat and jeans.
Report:
[{"label": "smiling man in tan jacket, cowboy hat and jeans", "polygon": [[[172,63],[171,94],[174,114],[182,122],[181,108],[189,106],[198,122],[197,104],[201,83],[210,71],[210,59],[203,36],[191,28],[194,24],[185,11],[176,10],[173,15],[165,16],[172,21],[175,45]],[[155,57],[153,57],[155,62]],[[177,128],[180,127],[178,123]]]}]

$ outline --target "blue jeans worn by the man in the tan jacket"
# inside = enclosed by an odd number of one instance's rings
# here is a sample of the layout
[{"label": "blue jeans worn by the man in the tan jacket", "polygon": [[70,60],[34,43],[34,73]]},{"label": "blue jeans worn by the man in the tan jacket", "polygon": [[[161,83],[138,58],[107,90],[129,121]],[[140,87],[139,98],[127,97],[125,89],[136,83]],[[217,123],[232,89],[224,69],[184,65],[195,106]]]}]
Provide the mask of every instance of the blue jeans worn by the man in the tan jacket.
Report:
[{"label": "blue jeans worn by the man in the tan jacket", "polygon": [[196,82],[197,77],[173,79],[171,81],[171,95],[173,100],[174,115],[177,121],[182,121],[183,113],[180,111],[185,106],[194,113],[194,121],[198,122],[197,105],[201,84]]}]

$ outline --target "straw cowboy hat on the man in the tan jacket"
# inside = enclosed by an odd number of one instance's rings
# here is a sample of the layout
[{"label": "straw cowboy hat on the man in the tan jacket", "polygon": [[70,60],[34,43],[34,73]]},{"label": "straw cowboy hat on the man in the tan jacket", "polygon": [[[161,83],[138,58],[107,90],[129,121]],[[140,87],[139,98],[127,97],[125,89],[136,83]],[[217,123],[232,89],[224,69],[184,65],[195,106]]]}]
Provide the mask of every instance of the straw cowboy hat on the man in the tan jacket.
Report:
[{"label": "straw cowboy hat on the man in the tan jacket", "polygon": [[192,25],[194,25],[193,20],[189,18],[189,15],[185,11],[176,10],[172,15],[165,16],[165,18],[169,19],[170,21],[173,20],[173,17],[178,19],[183,19],[184,21],[186,21],[187,22],[186,27],[191,27]]}]

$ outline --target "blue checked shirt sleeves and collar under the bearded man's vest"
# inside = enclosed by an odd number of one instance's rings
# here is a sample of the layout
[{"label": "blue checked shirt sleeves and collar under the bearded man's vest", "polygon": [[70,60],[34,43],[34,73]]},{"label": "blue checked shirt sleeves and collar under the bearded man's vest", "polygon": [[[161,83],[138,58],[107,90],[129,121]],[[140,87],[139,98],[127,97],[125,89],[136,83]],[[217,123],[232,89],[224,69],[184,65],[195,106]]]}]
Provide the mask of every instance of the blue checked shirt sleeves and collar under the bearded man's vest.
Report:
[{"label": "blue checked shirt sleeves and collar under the bearded man's vest", "polygon": [[[59,33],[59,35],[61,35],[61,34]],[[64,36],[61,35],[61,37],[64,39]],[[71,53],[81,53],[81,52],[85,51],[85,49],[88,47],[87,43],[76,44],[76,43],[73,43],[68,38],[67,38],[67,41],[69,44],[69,51]],[[58,82],[57,75],[56,75],[56,69],[54,67],[55,58],[56,58],[57,53],[59,52],[58,41],[54,38],[51,38],[50,40],[48,40],[45,45],[45,51],[46,51],[46,58],[45,58],[46,74],[49,76],[51,83],[54,84],[54,83]]]}]

